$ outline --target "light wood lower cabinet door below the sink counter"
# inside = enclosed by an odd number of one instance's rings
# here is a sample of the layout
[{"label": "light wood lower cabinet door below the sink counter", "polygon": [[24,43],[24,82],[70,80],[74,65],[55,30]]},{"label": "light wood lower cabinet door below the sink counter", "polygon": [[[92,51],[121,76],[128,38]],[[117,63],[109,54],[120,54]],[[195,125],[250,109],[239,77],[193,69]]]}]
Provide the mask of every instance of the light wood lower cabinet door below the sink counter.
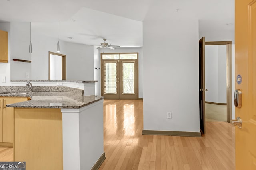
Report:
[{"label": "light wood lower cabinet door below the sink counter", "polygon": [[2,121],[2,142],[8,142],[12,143],[13,142],[13,136],[14,136],[14,109],[11,107],[6,107],[6,104],[11,104],[11,103],[17,103],[17,102],[24,102],[27,101],[28,98],[4,98],[4,108],[3,108],[3,121]]}]

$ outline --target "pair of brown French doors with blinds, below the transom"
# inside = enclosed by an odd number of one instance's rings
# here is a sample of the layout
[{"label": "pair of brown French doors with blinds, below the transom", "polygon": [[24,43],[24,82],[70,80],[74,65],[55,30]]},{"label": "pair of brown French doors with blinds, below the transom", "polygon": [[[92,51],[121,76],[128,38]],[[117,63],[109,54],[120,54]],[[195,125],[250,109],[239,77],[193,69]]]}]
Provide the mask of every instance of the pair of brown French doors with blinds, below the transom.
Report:
[{"label": "pair of brown French doors with blinds, below the transom", "polygon": [[138,99],[138,59],[102,59],[102,96]]}]

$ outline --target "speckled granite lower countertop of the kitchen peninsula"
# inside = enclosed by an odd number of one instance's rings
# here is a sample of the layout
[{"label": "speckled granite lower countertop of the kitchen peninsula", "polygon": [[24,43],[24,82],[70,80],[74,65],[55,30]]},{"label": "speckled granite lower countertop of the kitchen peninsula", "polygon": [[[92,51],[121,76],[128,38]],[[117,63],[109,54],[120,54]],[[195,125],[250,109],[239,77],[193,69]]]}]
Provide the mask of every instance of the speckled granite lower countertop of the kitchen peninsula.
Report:
[{"label": "speckled granite lower countertop of the kitchen peninsula", "polygon": [[79,109],[99,100],[102,96],[80,96],[71,92],[0,92],[0,97],[29,97],[31,100],[8,104],[6,107],[18,108],[63,108]]}]

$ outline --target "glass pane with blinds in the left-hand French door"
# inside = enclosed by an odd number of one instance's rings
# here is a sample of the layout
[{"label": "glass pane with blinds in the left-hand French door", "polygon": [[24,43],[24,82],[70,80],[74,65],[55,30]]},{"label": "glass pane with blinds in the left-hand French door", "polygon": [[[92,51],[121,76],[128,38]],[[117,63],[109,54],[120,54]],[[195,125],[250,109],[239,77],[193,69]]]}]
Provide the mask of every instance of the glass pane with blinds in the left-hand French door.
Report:
[{"label": "glass pane with blinds in the left-hand French door", "polygon": [[104,94],[117,94],[116,63],[104,63]]}]

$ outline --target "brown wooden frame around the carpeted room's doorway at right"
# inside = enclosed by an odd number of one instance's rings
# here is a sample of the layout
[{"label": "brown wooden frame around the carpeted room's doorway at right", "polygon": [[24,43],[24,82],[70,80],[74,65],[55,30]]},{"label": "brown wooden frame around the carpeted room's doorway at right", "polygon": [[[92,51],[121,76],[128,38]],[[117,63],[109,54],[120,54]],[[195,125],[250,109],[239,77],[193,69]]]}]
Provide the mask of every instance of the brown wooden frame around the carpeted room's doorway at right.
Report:
[{"label": "brown wooden frame around the carpeted room's doorway at right", "polygon": [[227,45],[227,57],[226,57],[226,96],[227,96],[227,122],[230,123],[232,118],[232,61],[231,61],[231,45],[232,41],[210,41],[205,42],[205,45]]}]

